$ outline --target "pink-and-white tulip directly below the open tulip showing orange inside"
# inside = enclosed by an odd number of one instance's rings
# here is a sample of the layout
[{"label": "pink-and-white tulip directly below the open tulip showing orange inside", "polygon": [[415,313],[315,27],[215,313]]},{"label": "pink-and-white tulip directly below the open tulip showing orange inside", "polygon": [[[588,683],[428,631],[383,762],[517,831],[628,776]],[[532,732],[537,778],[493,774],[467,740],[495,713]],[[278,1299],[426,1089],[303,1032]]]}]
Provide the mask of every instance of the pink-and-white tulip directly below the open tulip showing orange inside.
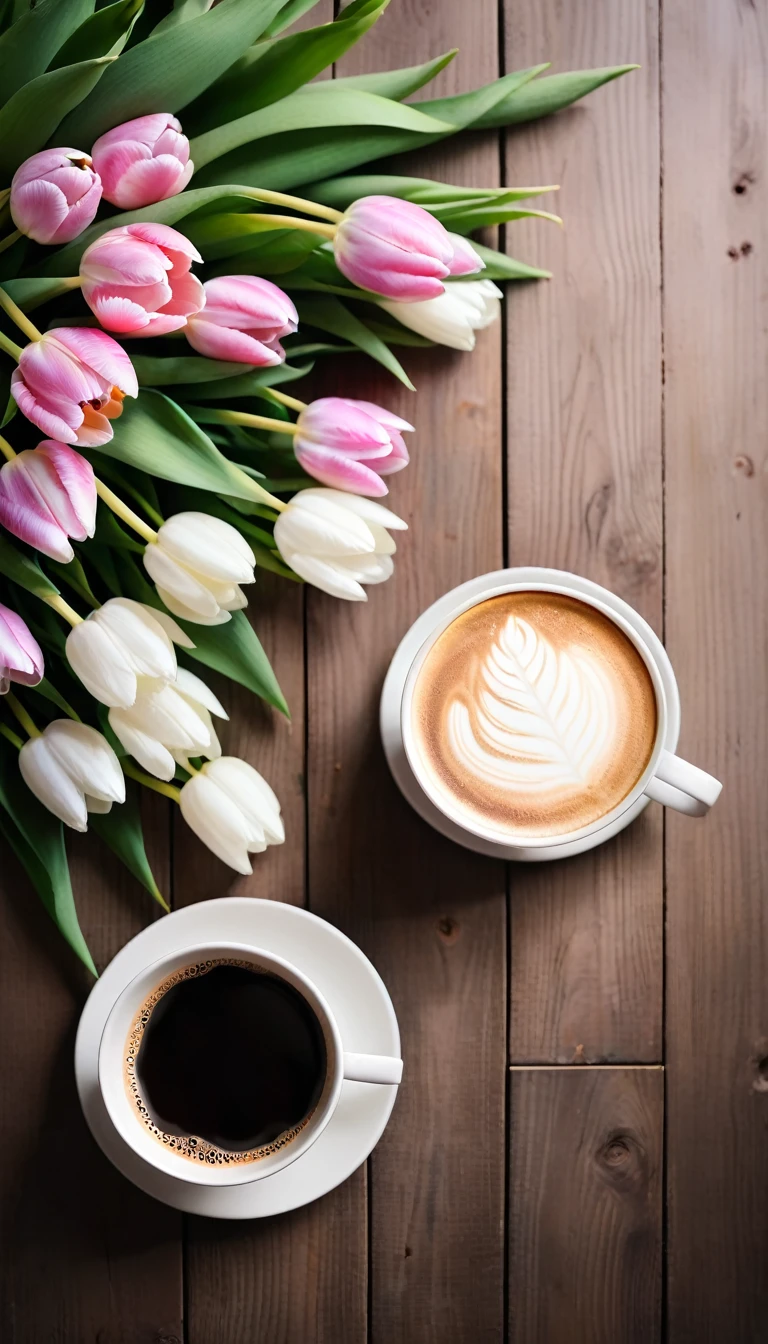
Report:
[{"label": "pink-and-white tulip directly below the open tulip showing orange inside", "polygon": [[19,540],[67,564],[69,538],[85,542],[95,528],[95,481],[90,462],[54,439],[19,453],[0,470],[0,523]]}]

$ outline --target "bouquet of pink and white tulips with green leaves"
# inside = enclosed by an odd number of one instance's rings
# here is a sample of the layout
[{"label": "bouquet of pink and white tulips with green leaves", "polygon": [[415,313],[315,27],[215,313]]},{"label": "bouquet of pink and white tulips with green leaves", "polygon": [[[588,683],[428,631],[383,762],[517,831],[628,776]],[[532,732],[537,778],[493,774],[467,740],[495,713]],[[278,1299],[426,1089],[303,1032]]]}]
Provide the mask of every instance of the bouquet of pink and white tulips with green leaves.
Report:
[{"label": "bouquet of pink and white tulips with green leaves", "polygon": [[410,387],[399,347],[472,349],[496,281],[546,274],[468,238],[555,219],[521,206],[554,188],[350,169],[631,69],[406,103],[455,52],[311,83],[387,0],[292,32],[312,4],[0,4],[0,832],[91,970],[63,827],[161,905],[139,786],[238,872],[284,839],[192,671],[288,712],[243,610],[256,567],[350,601],[393,571],[379,500],[412,426],[285,386],[360,349]]}]

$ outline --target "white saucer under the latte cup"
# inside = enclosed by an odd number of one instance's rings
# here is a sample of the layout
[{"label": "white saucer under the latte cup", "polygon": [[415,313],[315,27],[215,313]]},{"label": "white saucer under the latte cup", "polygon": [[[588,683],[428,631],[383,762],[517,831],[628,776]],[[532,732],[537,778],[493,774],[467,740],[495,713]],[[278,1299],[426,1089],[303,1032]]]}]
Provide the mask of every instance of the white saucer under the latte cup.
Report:
[{"label": "white saucer under the latte cup", "polygon": [[492,574],[482,574],[476,579],[469,579],[467,583],[461,583],[459,587],[452,589],[451,593],[438,598],[437,602],[432,603],[432,606],[428,606],[426,612],[422,612],[422,614],[410,626],[410,630],[408,630],[408,633],[402,637],[389,665],[389,672],[382,688],[379,710],[379,726],[385,755],[399,792],[406,801],[410,802],[412,808],[418,812],[420,817],[424,817],[430,827],[434,827],[436,831],[448,836],[449,840],[456,840],[457,844],[464,845],[465,849],[475,849],[477,853],[487,853],[496,859],[507,859],[518,863],[539,863],[545,859],[568,859],[574,853],[584,853],[586,849],[593,849],[596,845],[603,844],[604,840],[609,840],[612,836],[617,835],[619,831],[628,827],[629,823],[633,821],[651,801],[650,798],[638,798],[638,801],[632,804],[627,812],[621,813],[620,817],[612,821],[611,825],[603,827],[601,831],[596,831],[590,836],[584,836],[581,840],[572,840],[568,844],[550,845],[549,848],[545,847],[541,849],[525,849],[519,845],[510,848],[494,840],[483,840],[480,836],[473,836],[468,831],[463,831],[461,827],[456,825],[455,821],[451,821],[449,817],[445,817],[434,806],[430,798],[426,797],[421,785],[416,780],[410,765],[408,763],[408,757],[402,745],[399,722],[402,694],[410,665],[434,626],[444,621],[451,612],[461,605],[461,602],[476,597],[495,583],[562,583],[565,579],[568,579],[569,586],[582,593],[584,597],[599,598],[605,606],[612,607],[619,616],[623,616],[624,620],[646,641],[654,655],[654,659],[656,660],[667,698],[668,719],[664,746],[667,751],[674,751],[678,745],[681,731],[681,699],[673,665],[659,637],[632,606],[624,602],[620,597],[616,597],[615,593],[601,587],[599,583],[593,583],[590,579],[584,579],[578,574],[565,574],[564,570],[543,570],[538,567],[495,570]]}]

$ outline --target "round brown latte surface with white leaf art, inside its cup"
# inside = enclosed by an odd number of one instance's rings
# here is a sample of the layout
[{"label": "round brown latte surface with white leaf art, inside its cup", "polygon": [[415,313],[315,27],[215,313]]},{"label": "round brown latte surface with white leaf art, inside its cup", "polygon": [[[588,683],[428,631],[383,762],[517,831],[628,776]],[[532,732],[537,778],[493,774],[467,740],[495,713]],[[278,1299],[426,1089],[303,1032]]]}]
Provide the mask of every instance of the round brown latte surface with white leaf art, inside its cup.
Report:
[{"label": "round brown latte surface with white leaf art, inside its cup", "polygon": [[510,840],[561,836],[632,790],[656,741],[656,696],[640,653],[601,612],[554,593],[506,593],[437,638],[412,728],[457,820]]}]

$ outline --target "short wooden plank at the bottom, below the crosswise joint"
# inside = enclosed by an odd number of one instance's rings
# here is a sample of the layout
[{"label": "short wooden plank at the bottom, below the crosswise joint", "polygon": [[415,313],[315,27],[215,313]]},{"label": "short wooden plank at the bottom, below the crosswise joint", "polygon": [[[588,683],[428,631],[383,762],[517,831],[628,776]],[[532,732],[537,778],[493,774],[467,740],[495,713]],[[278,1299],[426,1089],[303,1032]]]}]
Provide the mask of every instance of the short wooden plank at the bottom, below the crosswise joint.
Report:
[{"label": "short wooden plank at the bottom, below the crosswise joint", "polygon": [[660,1340],[660,1068],[511,1074],[515,1344]]}]

